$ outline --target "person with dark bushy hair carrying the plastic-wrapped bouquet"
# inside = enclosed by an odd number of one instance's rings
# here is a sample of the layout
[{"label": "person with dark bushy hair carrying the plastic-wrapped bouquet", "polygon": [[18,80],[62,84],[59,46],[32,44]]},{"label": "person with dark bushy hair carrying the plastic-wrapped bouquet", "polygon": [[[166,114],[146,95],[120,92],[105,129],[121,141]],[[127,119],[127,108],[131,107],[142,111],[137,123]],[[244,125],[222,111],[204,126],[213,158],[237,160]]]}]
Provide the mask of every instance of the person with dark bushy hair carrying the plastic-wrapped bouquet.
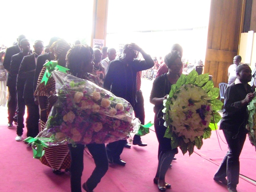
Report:
[{"label": "person with dark bushy hair carrying the plastic-wrapped bouquet", "polygon": [[[99,84],[98,78],[89,72],[93,71],[93,50],[84,45],[76,45],[67,53],[67,67],[71,74],[76,77],[86,79],[95,84]],[[89,152],[93,156],[95,169],[88,180],[83,184],[86,192],[92,192],[98,185],[101,178],[106,174],[109,168],[108,157],[105,144],[86,144]],[[71,155],[71,191],[81,192],[81,177],[84,169],[84,144],[76,144],[73,147],[69,144]]]}]

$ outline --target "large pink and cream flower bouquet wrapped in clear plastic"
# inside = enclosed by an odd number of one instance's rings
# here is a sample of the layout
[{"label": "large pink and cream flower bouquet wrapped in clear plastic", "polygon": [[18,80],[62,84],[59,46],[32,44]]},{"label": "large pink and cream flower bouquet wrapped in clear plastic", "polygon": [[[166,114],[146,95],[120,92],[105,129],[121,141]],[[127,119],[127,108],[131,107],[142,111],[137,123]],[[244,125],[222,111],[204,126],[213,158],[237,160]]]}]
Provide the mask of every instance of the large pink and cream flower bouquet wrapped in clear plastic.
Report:
[{"label": "large pink and cream flower bouquet wrapped in clear plastic", "polygon": [[50,137],[53,144],[103,144],[127,139],[139,128],[140,121],[125,99],[73,75],[51,74],[58,100],[38,137]]}]

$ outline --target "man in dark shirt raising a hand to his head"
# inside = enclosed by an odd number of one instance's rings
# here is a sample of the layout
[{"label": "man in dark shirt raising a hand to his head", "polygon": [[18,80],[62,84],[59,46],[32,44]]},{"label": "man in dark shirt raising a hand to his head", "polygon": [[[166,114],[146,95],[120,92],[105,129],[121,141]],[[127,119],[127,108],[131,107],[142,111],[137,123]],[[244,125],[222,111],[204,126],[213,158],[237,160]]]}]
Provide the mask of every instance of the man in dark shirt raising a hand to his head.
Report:
[{"label": "man in dark shirt raising a hand to his head", "polygon": [[[140,52],[145,60],[134,60],[137,52]],[[110,90],[115,96],[127,100],[134,108],[137,102],[137,72],[154,66],[150,55],[138,45],[131,43],[123,46],[122,56],[112,60],[105,76],[103,88]],[[126,139],[107,144],[107,153],[110,163],[124,166],[126,163],[120,158]]]}]

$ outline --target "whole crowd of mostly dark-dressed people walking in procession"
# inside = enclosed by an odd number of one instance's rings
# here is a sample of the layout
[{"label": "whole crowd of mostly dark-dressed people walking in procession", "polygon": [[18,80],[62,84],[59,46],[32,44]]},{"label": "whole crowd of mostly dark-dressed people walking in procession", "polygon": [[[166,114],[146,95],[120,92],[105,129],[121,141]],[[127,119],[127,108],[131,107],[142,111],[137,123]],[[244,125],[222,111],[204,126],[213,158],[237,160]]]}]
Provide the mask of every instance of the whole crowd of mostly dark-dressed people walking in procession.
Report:
[{"label": "whole crowd of mostly dark-dressed people walking in procession", "polygon": [[[142,56],[140,59],[139,53]],[[30,41],[21,35],[17,38],[17,44],[7,49],[1,48],[0,54],[0,67],[2,66],[0,70],[7,72],[9,90],[8,127],[12,127],[13,123],[16,124],[17,142],[23,140],[25,108],[27,108],[26,136],[36,137],[45,128],[49,112],[57,100],[54,78],[50,77],[46,84],[41,83],[46,71],[43,65],[48,61],[56,60],[58,65],[67,67],[73,76],[91,81],[115,96],[127,100],[134,108],[134,116],[142,124],[145,123],[145,110],[143,93],[140,90],[141,77],[155,79],[150,102],[154,104],[154,126],[159,145],[158,168],[153,182],[158,185],[159,191],[171,188],[171,185],[165,181],[165,175],[178,149],[172,148],[171,139],[164,137],[166,127],[162,109],[163,101],[171,91],[171,85],[176,84],[183,72],[183,48],[179,44],[174,44],[171,52],[163,60],[156,57],[152,59],[134,43],[125,44],[122,52],[117,56],[115,48],[103,47],[100,50],[99,47],[81,45],[79,41],[70,45],[59,37],[51,38],[47,46],[43,41],[36,40],[31,50]],[[240,58],[236,56],[234,62],[239,61]],[[226,91],[225,110],[220,125],[228,142],[229,152],[214,176],[214,180],[227,185],[229,192],[236,192],[239,155],[246,135],[244,127],[246,105],[254,95],[251,86],[247,84],[252,77],[249,66],[236,65],[234,69],[229,70],[230,78],[235,76],[236,80]],[[4,80],[4,77],[0,78]],[[1,91],[4,90],[4,86],[6,85],[0,84]],[[0,105],[4,105],[2,99],[0,102]],[[147,145],[142,142],[139,135],[134,135],[133,144]],[[127,140],[118,140],[106,145],[86,144],[96,167],[83,184],[81,177],[85,144],[50,146],[45,150],[45,156],[40,161],[52,168],[55,174],[61,174],[61,169],[69,170],[72,192],[81,192],[82,188],[86,192],[92,192],[108,171],[109,163],[125,166],[126,162],[121,158],[125,146],[131,147]],[[60,153],[54,155],[54,151]]]}]

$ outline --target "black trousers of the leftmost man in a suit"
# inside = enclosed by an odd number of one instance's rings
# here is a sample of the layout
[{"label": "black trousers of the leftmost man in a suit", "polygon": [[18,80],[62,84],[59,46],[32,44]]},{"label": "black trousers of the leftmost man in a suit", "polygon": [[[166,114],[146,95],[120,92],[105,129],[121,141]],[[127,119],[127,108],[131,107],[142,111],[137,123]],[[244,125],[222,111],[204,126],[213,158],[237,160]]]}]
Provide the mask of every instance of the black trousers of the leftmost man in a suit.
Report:
[{"label": "black trousers of the leftmost man in a suit", "polygon": [[8,98],[8,122],[12,122],[14,120],[15,112],[17,109],[17,92],[16,92],[16,85],[8,86],[9,90],[9,98]]}]

